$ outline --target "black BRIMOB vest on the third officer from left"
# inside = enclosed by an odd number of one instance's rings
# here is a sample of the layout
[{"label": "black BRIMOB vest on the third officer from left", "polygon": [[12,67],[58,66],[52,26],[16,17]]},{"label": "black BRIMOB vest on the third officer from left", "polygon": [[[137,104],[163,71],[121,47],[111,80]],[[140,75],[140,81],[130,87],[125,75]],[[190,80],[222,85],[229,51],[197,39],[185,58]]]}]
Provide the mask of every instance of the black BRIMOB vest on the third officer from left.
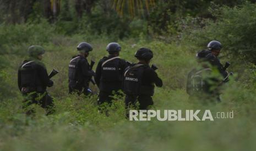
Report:
[{"label": "black BRIMOB vest on the third officer from left", "polygon": [[101,82],[122,82],[122,74],[120,67],[120,57],[112,57],[105,59],[101,65]]}]

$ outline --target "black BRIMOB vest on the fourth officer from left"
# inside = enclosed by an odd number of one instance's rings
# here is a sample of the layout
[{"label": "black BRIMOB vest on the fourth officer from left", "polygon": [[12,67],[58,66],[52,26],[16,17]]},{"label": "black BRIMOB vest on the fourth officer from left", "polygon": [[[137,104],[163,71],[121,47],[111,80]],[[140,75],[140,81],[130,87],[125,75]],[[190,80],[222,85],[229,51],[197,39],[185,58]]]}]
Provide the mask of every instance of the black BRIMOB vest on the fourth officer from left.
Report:
[{"label": "black BRIMOB vest on the fourth officer from left", "polygon": [[154,95],[154,86],[142,85],[142,77],[145,68],[143,64],[136,64],[129,67],[124,73],[123,89],[127,95]]}]

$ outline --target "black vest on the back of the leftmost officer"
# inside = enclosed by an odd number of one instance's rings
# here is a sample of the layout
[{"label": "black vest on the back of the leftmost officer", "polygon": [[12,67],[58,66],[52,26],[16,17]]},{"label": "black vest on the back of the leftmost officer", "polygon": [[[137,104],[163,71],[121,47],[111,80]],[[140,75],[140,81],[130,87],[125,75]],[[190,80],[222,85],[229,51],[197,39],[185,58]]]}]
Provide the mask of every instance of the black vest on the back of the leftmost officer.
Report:
[{"label": "black vest on the back of the leftmost officer", "polygon": [[21,86],[36,88],[38,86],[37,72],[34,61],[29,61],[20,67]]}]

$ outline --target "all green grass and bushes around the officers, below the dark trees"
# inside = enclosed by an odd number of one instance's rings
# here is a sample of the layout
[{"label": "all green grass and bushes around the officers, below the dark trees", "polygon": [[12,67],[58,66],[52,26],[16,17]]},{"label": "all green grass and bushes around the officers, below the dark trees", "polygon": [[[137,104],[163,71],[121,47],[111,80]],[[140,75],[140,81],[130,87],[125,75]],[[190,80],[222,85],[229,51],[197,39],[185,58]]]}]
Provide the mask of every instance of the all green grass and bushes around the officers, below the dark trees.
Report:
[{"label": "all green grass and bushes around the officers, below the dark trees", "polygon": [[[216,7],[215,4],[211,6]],[[166,25],[165,29],[158,28],[164,32],[151,31],[148,22],[133,19],[133,25],[138,28],[131,27],[124,37],[119,34],[125,31],[122,28],[112,28],[109,33],[96,32],[86,26],[85,23],[91,22],[86,17],[78,22],[79,30],[73,28],[74,22],[50,24],[43,18],[34,22],[36,17],[23,24],[3,22],[0,25],[0,149],[255,150],[255,8],[255,4],[248,2],[232,8],[219,6],[210,9],[213,18],[184,16]],[[95,11],[97,13],[97,9]],[[186,78],[196,65],[195,52],[204,49],[212,39],[223,43],[221,61],[230,61],[229,70],[236,74],[222,86],[221,103],[202,105],[188,100]],[[124,98],[116,98],[110,116],[98,113],[97,96],[68,95],[68,63],[81,41],[93,45],[89,60],[95,61],[107,55],[106,45],[113,41],[122,45],[121,57],[131,62],[136,62],[133,55],[138,48],[152,49],[152,63],[159,67],[157,73],[164,82],[163,88],[155,90],[155,109],[234,111],[234,118],[128,121],[124,118]],[[48,89],[55,98],[56,113],[46,117],[45,111],[36,107],[33,119],[26,117],[21,109],[23,98],[17,86],[18,66],[32,44],[42,45],[47,50],[43,62],[48,72],[52,68],[60,72],[53,78],[55,85]],[[97,91],[95,86],[92,89]]]}]

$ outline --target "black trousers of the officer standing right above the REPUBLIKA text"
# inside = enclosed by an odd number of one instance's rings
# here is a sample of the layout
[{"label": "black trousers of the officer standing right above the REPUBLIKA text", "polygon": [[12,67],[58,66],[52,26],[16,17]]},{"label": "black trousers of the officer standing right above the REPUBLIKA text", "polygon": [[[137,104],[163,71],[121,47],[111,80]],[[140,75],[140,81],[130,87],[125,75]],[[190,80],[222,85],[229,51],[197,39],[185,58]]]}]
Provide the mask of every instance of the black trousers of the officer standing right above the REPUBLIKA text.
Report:
[{"label": "black trousers of the officer standing right above the REPUBLIKA text", "polygon": [[139,102],[139,109],[148,109],[149,106],[154,104],[150,95],[126,95],[126,108],[129,108],[131,105],[135,106],[137,101]]}]

